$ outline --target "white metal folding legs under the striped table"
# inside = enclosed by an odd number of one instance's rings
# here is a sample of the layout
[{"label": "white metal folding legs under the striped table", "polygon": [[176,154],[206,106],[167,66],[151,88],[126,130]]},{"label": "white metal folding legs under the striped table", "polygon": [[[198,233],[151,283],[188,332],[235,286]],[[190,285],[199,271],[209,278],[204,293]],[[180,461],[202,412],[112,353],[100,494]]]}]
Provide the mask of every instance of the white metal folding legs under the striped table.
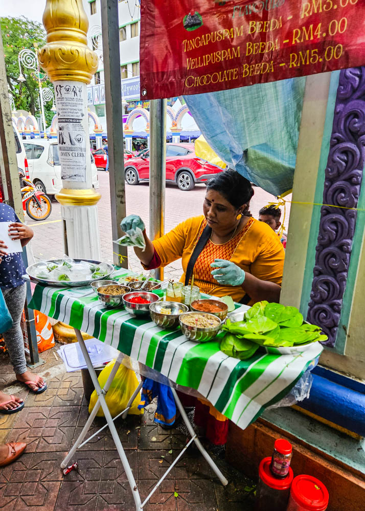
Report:
[{"label": "white metal folding legs under the striped table", "polygon": [[[217,475],[217,477],[219,478],[219,480],[223,484],[223,486],[226,486],[228,484],[228,481],[223,476],[221,471],[218,469],[218,467],[216,466],[216,464],[214,463],[212,458],[209,456],[207,451],[201,445],[200,440],[198,439],[197,434],[195,433],[192,425],[189,422],[188,416],[187,416],[187,414],[186,414],[186,412],[184,410],[184,407],[182,406],[182,404],[181,404],[181,402],[180,402],[180,400],[179,400],[179,398],[177,396],[177,393],[176,393],[175,389],[171,388],[173,396],[174,396],[174,399],[175,399],[175,402],[176,402],[176,405],[177,405],[177,408],[179,409],[179,412],[181,414],[182,420],[185,422],[186,427],[188,428],[188,431],[189,431],[189,434],[191,436],[191,439],[189,440],[189,443],[184,447],[184,449],[182,449],[182,451],[179,453],[179,455],[171,463],[170,467],[165,472],[165,474],[162,476],[162,478],[153,487],[153,489],[150,492],[150,494],[146,497],[146,499],[143,502],[141,502],[141,497],[140,497],[140,493],[138,491],[137,484],[136,484],[136,482],[134,480],[133,473],[132,473],[131,468],[129,466],[128,459],[127,459],[127,457],[125,455],[122,443],[120,441],[117,429],[116,429],[113,421],[118,419],[118,417],[120,417],[120,416],[122,416],[122,418],[125,419],[125,417],[127,416],[128,410],[131,407],[135,397],[137,396],[137,394],[139,393],[139,391],[142,388],[142,383],[140,383],[138,385],[138,387],[134,390],[132,396],[130,397],[130,399],[128,401],[126,409],[123,410],[114,419],[112,419],[112,417],[110,415],[110,411],[109,411],[108,405],[106,404],[106,401],[105,401],[105,394],[109,390],[110,384],[113,381],[113,379],[114,379],[114,377],[115,377],[115,375],[117,373],[117,370],[118,370],[118,368],[119,368],[119,366],[120,366],[124,356],[123,356],[122,353],[120,353],[120,355],[117,358],[116,363],[113,365],[111,373],[110,373],[110,375],[109,375],[109,377],[108,377],[104,387],[101,388],[100,385],[99,385],[98,377],[96,376],[96,373],[95,373],[95,369],[93,367],[93,363],[90,360],[89,354],[87,353],[87,349],[86,349],[84,340],[82,338],[81,332],[80,332],[80,330],[77,330],[75,328],[75,333],[76,333],[77,340],[78,340],[78,342],[80,344],[80,348],[81,348],[82,354],[83,354],[83,356],[85,358],[85,362],[87,364],[87,369],[89,371],[90,378],[92,379],[94,387],[95,387],[95,390],[96,390],[96,393],[98,394],[98,401],[96,402],[96,405],[93,408],[93,411],[90,413],[90,416],[87,419],[86,424],[83,427],[83,430],[81,431],[80,436],[77,438],[73,448],[71,449],[69,454],[67,454],[67,456],[62,461],[61,468],[64,469],[65,467],[67,467],[67,464],[69,464],[70,460],[74,456],[74,454],[77,451],[77,449],[79,449],[80,447],[85,445],[87,442],[89,442],[90,439],[92,439],[92,438],[94,438],[94,436],[98,435],[100,433],[100,431],[102,431],[107,426],[109,426],[109,430],[111,432],[111,436],[112,436],[112,438],[114,440],[114,443],[116,445],[118,454],[119,454],[119,456],[121,458],[122,465],[123,465],[123,468],[125,470],[125,473],[126,473],[126,476],[127,476],[128,482],[129,482],[130,489],[132,491],[132,495],[133,495],[133,499],[134,499],[134,504],[135,504],[135,511],[143,511],[143,507],[147,504],[147,502],[149,501],[149,499],[152,496],[152,494],[157,490],[158,486],[162,483],[162,481],[165,479],[165,477],[168,475],[168,473],[171,471],[171,469],[174,467],[174,465],[177,463],[177,461],[181,458],[181,456],[185,453],[187,448],[193,442],[195,442],[196,447],[199,449],[199,451],[204,456],[204,458],[208,461],[210,467],[212,468],[214,473]],[[94,433],[92,436],[90,436],[89,438],[84,440],[84,437],[86,436],[87,431],[89,430],[90,426],[92,425],[92,423],[93,423],[93,421],[95,419],[95,416],[96,416],[100,406],[103,409],[104,416],[105,416],[105,419],[106,419],[106,424],[105,424],[105,426],[100,428],[96,433]]]}]

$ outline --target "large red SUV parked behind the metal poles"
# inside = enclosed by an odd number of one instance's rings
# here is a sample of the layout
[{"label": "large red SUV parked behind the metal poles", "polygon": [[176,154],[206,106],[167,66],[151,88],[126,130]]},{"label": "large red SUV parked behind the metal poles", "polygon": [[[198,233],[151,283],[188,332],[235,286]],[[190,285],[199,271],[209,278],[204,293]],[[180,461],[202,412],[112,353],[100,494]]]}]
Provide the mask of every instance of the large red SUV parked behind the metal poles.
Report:
[{"label": "large red SUV parked behind the metal poles", "polygon": [[[142,156],[124,162],[125,180],[138,184],[149,179],[149,150]],[[193,144],[166,144],[166,182],[175,183],[180,190],[192,190],[195,183],[208,181],[223,169],[198,158]]]}]

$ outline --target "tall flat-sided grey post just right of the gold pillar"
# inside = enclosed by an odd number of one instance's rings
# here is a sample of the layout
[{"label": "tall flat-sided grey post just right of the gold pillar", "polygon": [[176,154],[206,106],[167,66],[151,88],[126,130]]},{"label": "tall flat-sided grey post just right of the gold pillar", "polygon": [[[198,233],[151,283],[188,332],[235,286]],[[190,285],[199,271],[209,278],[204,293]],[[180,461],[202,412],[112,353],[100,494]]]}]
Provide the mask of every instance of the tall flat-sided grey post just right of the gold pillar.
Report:
[{"label": "tall flat-sided grey post just right of the gold pillar", "polygon": [[[117,240],[122,236],[120,223],[126,216],[118,0],[101,2],[101,26],[103,34],[106,125],[108,130],[111,232],[113,240]],[[120,261],[120,255],[125,258],[123,261]],[[115,265],[127,268],[127,247],[114,243],[113,260]]]}]

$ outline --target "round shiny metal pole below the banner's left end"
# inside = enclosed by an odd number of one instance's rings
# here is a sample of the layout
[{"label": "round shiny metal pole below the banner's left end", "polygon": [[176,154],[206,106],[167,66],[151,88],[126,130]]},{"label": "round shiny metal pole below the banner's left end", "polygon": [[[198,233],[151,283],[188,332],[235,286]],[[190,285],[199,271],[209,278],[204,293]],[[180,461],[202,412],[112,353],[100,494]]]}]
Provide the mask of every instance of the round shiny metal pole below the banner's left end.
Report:
[{"label": "round shiny metal pole below the banner's left end", "polygon": [[[152,240],[163,236],[165,229],[166,112],[166,99],[150,101],[150,238]],[[157,268],[155,276],[163,280],[163,268]]]}]

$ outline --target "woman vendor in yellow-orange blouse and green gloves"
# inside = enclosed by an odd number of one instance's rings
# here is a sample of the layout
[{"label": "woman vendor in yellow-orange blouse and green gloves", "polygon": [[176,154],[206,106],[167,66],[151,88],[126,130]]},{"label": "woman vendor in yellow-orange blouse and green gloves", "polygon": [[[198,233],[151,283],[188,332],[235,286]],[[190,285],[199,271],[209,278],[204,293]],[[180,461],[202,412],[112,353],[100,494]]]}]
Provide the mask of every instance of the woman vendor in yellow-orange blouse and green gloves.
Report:
[{"label": "woman vendor in yellow-orange blouse and green gloves", "polygon": [[[145,269],[181,258],[181,282],[188,285],[194,274],[194,285],[203,293],[230,295],[248,305],[260,300],[278,302],[285,252],[273,230],[249,213],[253,195],[247,179],[227,170],[207,182],[203,216],[181,222],[153,242],[137,215],[123,219],[121,228],[127,234],[135,227],[142,229],[146,248],[134,251]],[[206,427],[212,443],[225,443],[228,422],[207,401],[197,404],[195,422]]]}]

